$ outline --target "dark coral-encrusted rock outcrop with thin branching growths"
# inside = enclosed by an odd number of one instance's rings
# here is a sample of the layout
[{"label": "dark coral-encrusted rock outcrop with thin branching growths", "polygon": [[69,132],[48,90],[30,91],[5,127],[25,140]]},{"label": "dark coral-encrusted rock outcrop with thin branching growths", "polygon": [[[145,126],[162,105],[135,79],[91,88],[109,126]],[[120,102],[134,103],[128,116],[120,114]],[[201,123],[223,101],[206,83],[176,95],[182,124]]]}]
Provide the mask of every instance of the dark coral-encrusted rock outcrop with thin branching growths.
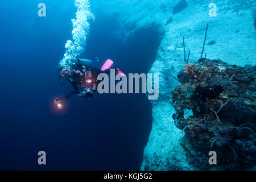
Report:
[{"label": "dark coral-encrusted rock outcrop with thin branching growths", "polygon": [[[200,59],[185,65],[172,91],[175,125],[189,162],[210,169],[208,152],[217,152],[218,169],[250,169],[256,163],[256,67]],[[192,114],[186,116],[185,110]],[[216,166],[215,166],[216,167]]]}]

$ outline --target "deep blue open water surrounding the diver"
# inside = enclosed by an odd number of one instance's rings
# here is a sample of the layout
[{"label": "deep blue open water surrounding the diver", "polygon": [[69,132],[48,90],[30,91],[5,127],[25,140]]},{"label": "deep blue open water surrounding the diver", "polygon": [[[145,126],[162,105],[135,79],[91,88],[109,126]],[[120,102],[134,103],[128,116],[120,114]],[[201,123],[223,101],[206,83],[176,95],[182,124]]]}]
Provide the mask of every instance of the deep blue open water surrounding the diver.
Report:
[{"label": "deep blue open water surrounding the diver", "polygon": [[[72,96],[62,113],[53,111],[52,100],[72,91],[57,84],[57,64],[72,38],[76,8],[73,1],[43,1],[47,16],[39,18],[40,2],[11,0],[0,7],[0,169],[139,169],[152,125],[144,94],[97,94],[91,102]],[[142,28],[124,43],[113,35],[118,28],[115,16],[94,20],[80,57],[97,68],[112,59],[123,72],[147,73],[160,32]],[[46,166],[38,165],[41,150]]]}]

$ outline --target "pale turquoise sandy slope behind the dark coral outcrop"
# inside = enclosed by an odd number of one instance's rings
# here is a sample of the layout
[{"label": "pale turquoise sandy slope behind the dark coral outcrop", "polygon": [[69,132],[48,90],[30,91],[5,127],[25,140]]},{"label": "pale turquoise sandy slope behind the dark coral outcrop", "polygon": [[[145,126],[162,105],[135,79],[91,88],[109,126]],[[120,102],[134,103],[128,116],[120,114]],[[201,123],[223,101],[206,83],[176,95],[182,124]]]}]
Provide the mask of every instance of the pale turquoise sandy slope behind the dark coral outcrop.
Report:
[{"label": "pale turquoise sandy slope behind the dark coral outcrop", "polygon": [[[200,59],[207,23],[208,35],[204,53],[208,59],[221,59],[228,64],[254,65],[256,57],[256,2],[216,1],[217,16],[209,16],[209,3],[201,0],[181,1],[95,1],[92,9],[106,16],[115,16],[127,36],[140,27],[154,24],[164,32],[155,63],[150,72],[160,73],[159,98],[152,101],[152,131],[144,150],[142,170],[197,169],[187,159],[180,145],[182,134],[172,118],[176,113],[172,90],[179,82],[176,77],[183,69],[183,36],[189,63]],[[105,7],[105,9],[98,9]],[[97,17],[96,17],[97,19]],[[118,35],[118,34],[117,34]],[[125,39],[125,38],[121,38]],[[190,164],[189,164],[190,163]]]}]

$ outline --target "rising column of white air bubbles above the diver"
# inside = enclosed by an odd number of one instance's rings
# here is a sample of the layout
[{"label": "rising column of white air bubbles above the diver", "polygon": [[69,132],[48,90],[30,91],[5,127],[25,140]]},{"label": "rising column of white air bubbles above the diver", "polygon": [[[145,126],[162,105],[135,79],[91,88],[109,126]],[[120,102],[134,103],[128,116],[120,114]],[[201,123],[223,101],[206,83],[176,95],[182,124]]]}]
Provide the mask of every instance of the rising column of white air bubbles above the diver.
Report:
[{"label": "rising column of white air bubbles above the diver", "polygon": [[68,40],[65,44],[66,50],[63,61],[68,61],[73,57],[78,57],[82,52],[84,52],[86,37],[90,30],[89,20],[94,19],[94,15],[90,13],[90,3],[88,0],[75,0],[75,6],[77,7],[77,13],[76,19],[72,19],[73,42],[72,40]]}]

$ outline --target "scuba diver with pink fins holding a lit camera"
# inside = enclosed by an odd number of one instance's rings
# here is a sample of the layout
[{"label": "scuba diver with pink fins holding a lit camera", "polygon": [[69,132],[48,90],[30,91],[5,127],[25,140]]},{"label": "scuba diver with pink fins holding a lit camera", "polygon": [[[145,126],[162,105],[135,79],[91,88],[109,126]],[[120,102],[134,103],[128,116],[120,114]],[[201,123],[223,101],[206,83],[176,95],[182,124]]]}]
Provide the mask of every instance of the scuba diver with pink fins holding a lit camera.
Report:
[{"label": "scuba diver with pink fins holding a lit camera", "polygon": [[[96,92],[97,86],[100,83],[97,80],[98,75],[100,73],[110,73],[110,67],[112,65],[113,61],[108,59],[100,70],[93,67],[92,60],[79,58],[61,60],[58,64],[58,72],[60,73],[59,84],[64,85],[65,81],[68,80],[75,90],[63,98],[68,99],[72,94],[77,94],[80,97],[85,97],[87,101],[91,101],[93,99],[93,93]],[[120,69],[114,69],[116,73],[124,75]],[[64,78],[64,81],[61,82],[61,78]],[[55,100],[55,105],[59,109],[63,107],[59,102],[63,98],[56,98]]]}]

